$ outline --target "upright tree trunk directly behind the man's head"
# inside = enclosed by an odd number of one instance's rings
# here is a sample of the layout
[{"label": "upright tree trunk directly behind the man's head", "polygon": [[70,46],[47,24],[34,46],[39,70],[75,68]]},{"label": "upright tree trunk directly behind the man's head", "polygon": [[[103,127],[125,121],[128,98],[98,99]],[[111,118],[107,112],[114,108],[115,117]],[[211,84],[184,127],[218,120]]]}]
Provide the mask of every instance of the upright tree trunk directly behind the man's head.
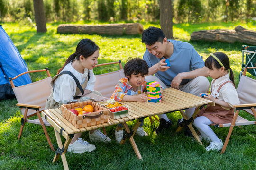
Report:
[{"label": "upright tree trunk directly behind the man's head", "polygon": [[173,39],[172,0],[160,0],[160,26],[168,39]]}]

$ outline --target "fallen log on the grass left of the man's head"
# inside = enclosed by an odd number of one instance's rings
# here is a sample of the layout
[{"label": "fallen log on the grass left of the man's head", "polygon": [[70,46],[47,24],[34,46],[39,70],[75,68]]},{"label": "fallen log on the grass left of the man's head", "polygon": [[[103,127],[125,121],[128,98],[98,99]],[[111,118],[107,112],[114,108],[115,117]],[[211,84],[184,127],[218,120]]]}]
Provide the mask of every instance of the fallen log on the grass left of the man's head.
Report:
[{"label": "fallen log on the grass left of the man's head", "polygon": [[72,34],[142,34],[143,26],[140,23],[126,24],[102,24],[102,25],[75,25],[61,24],[57,28],[57,33],[72,33]]}]

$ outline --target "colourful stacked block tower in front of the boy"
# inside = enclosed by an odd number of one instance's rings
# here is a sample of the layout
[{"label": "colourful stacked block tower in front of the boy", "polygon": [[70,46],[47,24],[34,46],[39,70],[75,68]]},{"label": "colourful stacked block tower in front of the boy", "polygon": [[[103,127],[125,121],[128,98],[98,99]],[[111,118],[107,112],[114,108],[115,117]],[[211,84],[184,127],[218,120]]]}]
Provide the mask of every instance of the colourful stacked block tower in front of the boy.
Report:
[{"label": "colourful stacked block tower in front of the boy", "polygon": [[160,84],[157,81],[146,83],[148,102],[161,102]]}]

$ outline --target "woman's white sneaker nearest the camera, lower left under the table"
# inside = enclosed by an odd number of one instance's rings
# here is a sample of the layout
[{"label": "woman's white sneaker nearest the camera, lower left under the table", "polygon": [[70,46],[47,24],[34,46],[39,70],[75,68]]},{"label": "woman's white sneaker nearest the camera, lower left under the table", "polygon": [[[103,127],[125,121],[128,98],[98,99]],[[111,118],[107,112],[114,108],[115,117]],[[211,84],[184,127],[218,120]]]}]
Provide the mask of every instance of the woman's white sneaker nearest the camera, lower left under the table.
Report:
[{"label": "woman's white sneaker nearest the camera, lower left under the table", "polygon": [[89,144],[87,141],[83,140],[82,138],[78,138],[73,144],[68,146],[67,151],[73,153],[84,153],[91,152],[95,150],[96,147],[93,144]]}]

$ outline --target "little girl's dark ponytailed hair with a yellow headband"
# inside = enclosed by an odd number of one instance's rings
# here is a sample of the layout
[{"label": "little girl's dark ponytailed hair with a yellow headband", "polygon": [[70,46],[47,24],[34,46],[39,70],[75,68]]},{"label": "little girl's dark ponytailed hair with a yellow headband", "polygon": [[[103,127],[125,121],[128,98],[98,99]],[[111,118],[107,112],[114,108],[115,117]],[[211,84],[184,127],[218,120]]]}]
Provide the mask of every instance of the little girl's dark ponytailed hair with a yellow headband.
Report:
[{"label": "little girl's dark ponytailed hair with a yellow headband", "polygon": [[[220,62],[223,64],[225,70],[230,71],[229,78],[235,85],[234,74],[233,74],[232,69],[230,68],[229,57],[226,54],[224,54],[223,52],[215,52],[215,53],[213,53],[213,55],[215,55],[220,60]],[[209,68],[210,70],[213,70],[212,67],[215,67],[217,69],[220,69],[222,67],[219,64],[219,62],[216,59],[214,59],[211,55],[205,60],[204,65],[207,68]]]}]

